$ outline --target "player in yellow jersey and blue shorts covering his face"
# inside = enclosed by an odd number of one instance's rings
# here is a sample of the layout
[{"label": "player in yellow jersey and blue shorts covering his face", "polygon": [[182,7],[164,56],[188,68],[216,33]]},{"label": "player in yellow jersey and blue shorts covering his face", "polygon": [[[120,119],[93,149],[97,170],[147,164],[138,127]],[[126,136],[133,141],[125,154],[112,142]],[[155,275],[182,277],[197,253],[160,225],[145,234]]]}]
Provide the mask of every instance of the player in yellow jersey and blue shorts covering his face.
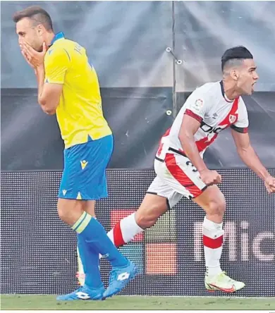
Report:
[{"label": "player in yellow jersey and blue shorts covering his face", "polygon": [[[35,70],[38,103],[45,113],[56,113],[65,144],[58,212],[78,233],[85,285],[58,300],[102,300],[121,291],[138,269],[118,252],[92,217],[95,200],[107,197],[105,171],[113,151],[97,73],[80,44],[66,39],[62,32],[54,34],[44,9],[31,6],[17,12],[13,21],[22,54]],[[99,273],[99,254],[113,268],[106,290]]]}]

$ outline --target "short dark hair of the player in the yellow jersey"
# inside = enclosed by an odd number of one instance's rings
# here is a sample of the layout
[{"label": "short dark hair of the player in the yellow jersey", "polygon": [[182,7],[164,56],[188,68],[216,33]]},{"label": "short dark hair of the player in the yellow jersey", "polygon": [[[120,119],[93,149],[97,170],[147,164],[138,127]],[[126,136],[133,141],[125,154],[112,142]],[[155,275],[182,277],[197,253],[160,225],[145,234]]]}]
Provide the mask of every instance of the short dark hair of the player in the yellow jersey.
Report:
[{"label": "short dark hair of the player in the yellow jersey", "polygon": [[18,11],[13,15],[13,22],[17,23],[23,18],[30,18],[35,25],[42,24],[47,30],[54,30],[49,13],[40,6],[29,6],[22,11]]}]

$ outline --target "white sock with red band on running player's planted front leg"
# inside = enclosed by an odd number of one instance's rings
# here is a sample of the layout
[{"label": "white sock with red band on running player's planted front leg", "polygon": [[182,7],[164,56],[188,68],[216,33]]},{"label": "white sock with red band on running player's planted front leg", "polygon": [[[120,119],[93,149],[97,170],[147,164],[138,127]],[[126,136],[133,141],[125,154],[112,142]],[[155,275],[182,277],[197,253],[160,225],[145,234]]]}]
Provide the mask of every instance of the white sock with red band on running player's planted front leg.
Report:
[{"label": "white sock with red band on running player's planted front leg", "polygon": [[203,221],[203,245],[207,276],[215,276],[221,273],[220,259],[223,247],[224,231],[223,223],[214,223],[204,217]]}]

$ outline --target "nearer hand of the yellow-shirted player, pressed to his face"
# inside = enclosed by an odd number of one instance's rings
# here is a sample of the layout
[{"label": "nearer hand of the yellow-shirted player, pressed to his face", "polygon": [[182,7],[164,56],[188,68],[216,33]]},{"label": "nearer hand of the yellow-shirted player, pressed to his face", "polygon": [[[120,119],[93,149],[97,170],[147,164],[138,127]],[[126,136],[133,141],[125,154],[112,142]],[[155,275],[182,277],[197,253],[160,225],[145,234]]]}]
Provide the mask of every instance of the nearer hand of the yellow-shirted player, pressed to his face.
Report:
[{"label": "nearer hand of the yellow-shirted player, pressed to his face", "polygon": [[44,63],[44,57],[47,52],[47,45],[45,42],[43,42],[42,51],[38,52],[32,47],[30,47],[30,44],[27,44],[25,41],[20,42],[20,49],[22,51],[22,54],[27,61],[27,63],[32,66],[32,68],[37,68],[38,66],[42,66]]}]

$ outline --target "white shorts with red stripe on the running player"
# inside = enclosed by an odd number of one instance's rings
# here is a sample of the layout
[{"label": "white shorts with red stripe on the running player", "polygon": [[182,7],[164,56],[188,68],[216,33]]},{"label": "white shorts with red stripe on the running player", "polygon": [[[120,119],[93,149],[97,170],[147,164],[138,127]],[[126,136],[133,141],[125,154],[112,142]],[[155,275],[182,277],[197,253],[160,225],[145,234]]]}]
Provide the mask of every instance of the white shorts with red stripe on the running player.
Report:
[{"label": "white shorts with red stripe on the running player", "polygon": [[166,197],[169,206],[174,207],[182,197],[193,199],[202,194],[207,185],[190,159],[180,154],[167,153],[164,160],[154,160],[157,177],[147,193]]}]

